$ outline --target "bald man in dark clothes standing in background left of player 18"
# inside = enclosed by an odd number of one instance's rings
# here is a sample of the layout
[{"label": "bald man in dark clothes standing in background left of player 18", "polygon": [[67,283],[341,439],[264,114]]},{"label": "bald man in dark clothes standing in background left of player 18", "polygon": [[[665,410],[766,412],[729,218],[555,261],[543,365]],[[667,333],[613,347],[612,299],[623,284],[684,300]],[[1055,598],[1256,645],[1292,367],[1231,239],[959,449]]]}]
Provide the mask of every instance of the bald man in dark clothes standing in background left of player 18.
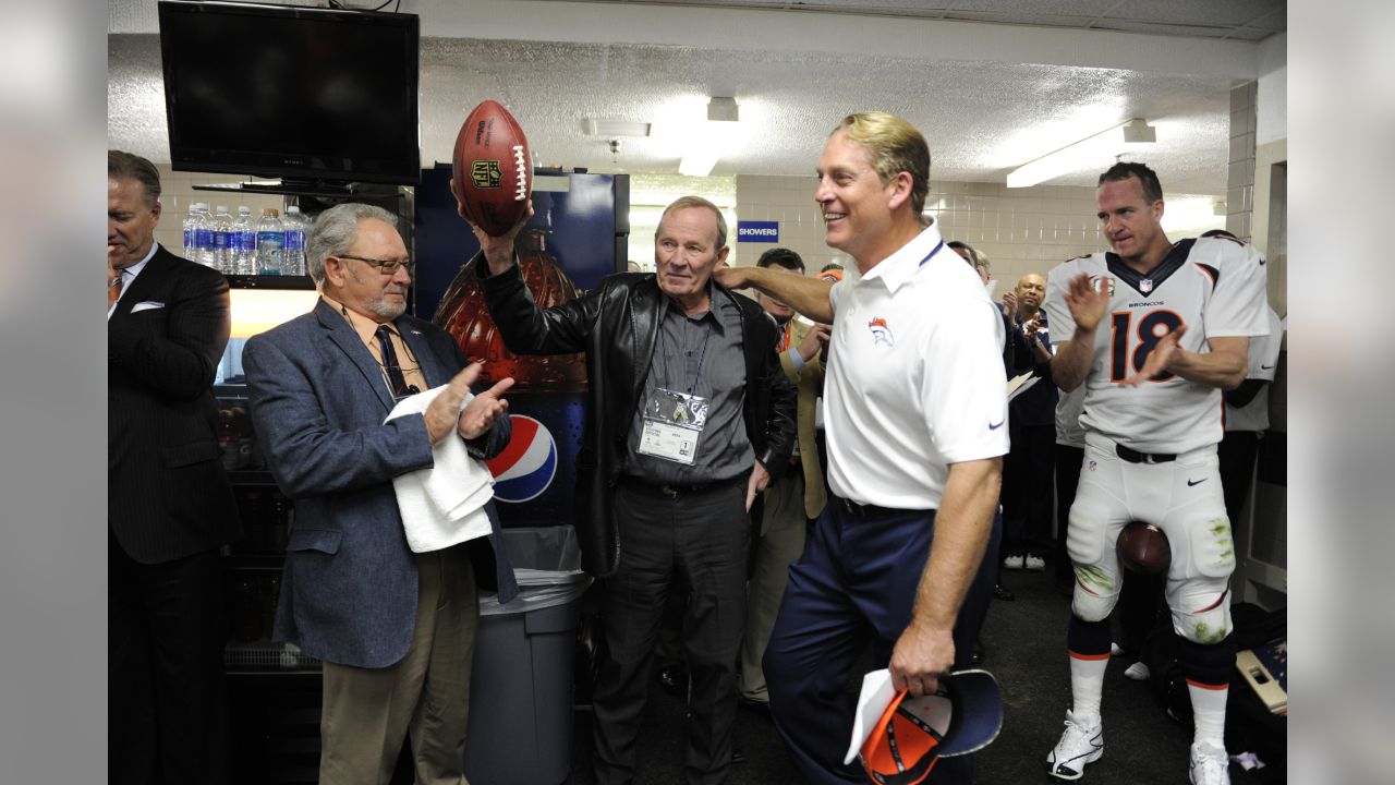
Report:
[{"label": "bald man in dark clothes standing in background left of player 18", "polygon": [[1050,335],[1041,310],[1046,278],[1028,272],[1013,289],[1010,327],[1031,349],[1038,381],[1009,405],[1011,451],[1003,460],[1003,567],[1045,570],[1050,552],[1052,444],[1056,440],[1056,384],[1050,377]]}]

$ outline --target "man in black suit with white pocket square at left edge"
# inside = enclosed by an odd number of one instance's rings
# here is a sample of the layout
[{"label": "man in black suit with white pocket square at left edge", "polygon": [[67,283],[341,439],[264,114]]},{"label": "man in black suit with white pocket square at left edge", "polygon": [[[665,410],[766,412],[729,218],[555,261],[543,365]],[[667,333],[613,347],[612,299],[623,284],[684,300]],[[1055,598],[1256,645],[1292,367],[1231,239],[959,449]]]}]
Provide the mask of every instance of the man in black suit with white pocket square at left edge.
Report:
[{"label": "man in black suit with white pocket square at left edge", "polygon": [[223,782],[223,592],[239,536],[218,446],[227,281],[155,243],[160,179],[107,152],[107,691],[112,782]]}]

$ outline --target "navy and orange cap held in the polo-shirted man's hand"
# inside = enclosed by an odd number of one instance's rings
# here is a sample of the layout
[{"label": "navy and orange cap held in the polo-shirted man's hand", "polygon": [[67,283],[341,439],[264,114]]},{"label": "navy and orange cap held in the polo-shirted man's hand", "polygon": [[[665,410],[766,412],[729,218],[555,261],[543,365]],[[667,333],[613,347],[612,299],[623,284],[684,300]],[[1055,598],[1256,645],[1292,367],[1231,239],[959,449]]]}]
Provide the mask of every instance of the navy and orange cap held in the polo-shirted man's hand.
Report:
[{"label": "navy and orange cap held in the polo-shirted man's hand", "polygon": [[988,670],[939,677],[933,696],[905,690],[887,704],[862,743],[862,768],[877,785],[917,785],[940,757],[986,747],[1003,726],[1003,693]]}]

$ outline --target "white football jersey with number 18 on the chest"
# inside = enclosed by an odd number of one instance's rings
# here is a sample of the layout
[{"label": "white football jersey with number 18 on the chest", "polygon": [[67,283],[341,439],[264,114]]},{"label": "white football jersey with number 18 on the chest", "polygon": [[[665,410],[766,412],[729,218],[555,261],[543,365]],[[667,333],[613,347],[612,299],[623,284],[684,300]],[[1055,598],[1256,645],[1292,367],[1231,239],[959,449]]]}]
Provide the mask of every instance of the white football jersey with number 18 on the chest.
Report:
[{"label": "white football jersey with number 18 on the chest", "polygon": [[1109,286],[1109,310],[1095,328],[1080,423],[1141,453],[1219,443],[1221,390],[1166,372],[1138,387],[1120,383],[1180,324],[1187,325],[1182,348],[1189,352],[1208,352],[1209,338],[1268,334],[1267,268],[1254,246],[1229,237],[1182,240],[1148,275],[1113,253],[1057,265],[1046,278],[1045,309],[1062,342],[1076,332],[1066,292],[1081,272]]}]

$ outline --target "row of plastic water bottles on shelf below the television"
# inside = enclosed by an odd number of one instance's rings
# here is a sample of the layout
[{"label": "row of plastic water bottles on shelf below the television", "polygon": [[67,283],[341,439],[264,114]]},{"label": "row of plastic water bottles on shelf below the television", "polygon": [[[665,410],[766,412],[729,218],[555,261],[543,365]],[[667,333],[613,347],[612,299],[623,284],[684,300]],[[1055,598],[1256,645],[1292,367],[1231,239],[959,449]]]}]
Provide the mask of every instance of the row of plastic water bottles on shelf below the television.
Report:
[{"label": "row of plastic water bottles on shelf below the television", "polygon": [[304,275],[308,230],[310,219],[296,205],[286,208],[285,218],[268,207],[252,222],[247,205],[233,218],[226,205],[209,215],[208,204],[195,201],[184,218],[184,258],[225,275]]}]

